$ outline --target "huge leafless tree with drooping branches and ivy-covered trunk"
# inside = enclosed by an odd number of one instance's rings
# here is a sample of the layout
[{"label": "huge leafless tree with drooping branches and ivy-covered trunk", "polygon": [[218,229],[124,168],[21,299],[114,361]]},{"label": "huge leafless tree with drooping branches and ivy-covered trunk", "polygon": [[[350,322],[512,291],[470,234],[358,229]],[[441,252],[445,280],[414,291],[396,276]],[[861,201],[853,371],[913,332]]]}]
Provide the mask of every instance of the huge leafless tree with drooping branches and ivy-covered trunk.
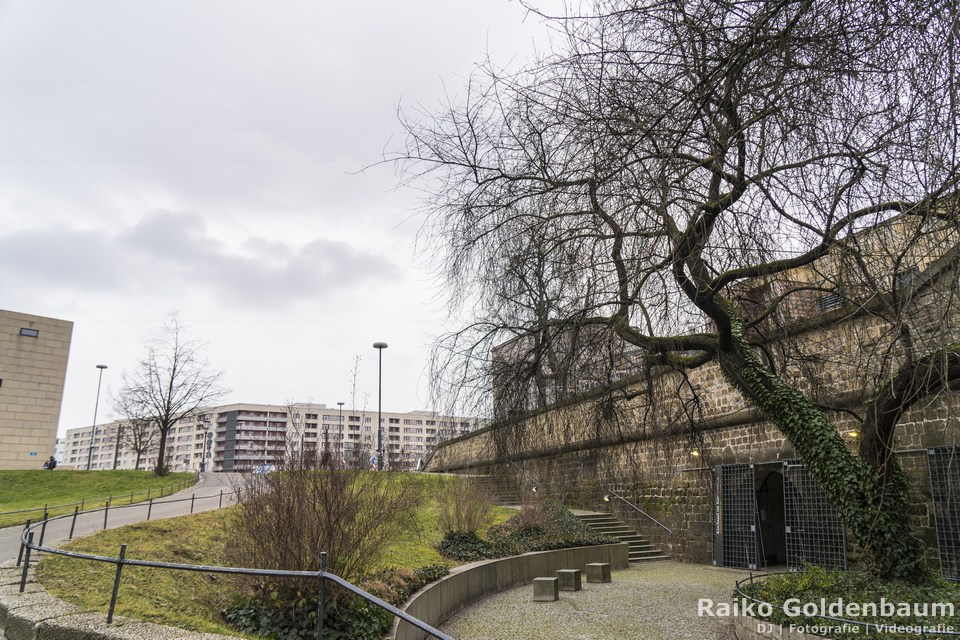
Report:
[{"label": "huge leafless tree with drooping branches and ivy-covered trunk", "polygon": [[[430,191],[428,246],[471,316],[436,379],[483,395],[493,346],[515,340],[504,362],[539,392],[543,345],[591,333],[641,371],[716,367],[871,568],[922,578],[892,444],[903,411],[960,377],[957,279],[935,275],[957,261],[957,24],[939,2],[598,0],[554,19],[544,60],[487,62],[445,109],[403,115],[390,159]],[[898,269],[934,262],[900,286]],[[944,311],[921,327],[935,281]],[[836,358],[865,407],[859,457],[803,375],[824,357],[797,314],[811,300],[877,323]]]}]

